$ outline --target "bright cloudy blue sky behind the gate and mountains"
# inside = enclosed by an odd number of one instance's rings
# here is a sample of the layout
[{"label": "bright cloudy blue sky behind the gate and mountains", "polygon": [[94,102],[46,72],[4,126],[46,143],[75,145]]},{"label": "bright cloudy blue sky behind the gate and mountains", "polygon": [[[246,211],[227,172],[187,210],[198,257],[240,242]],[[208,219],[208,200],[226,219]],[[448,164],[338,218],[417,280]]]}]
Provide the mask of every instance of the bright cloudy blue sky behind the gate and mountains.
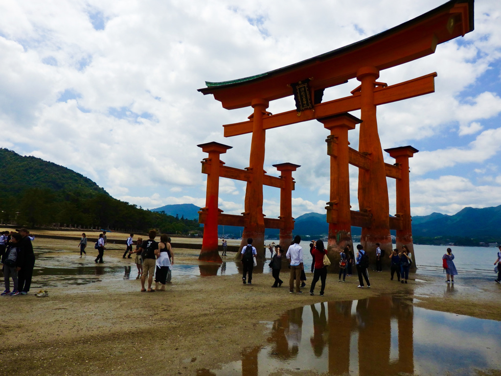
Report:
[{"label": "bright cloudy blue sky behind the gate and mountains", "polygon": [[[197,89],[335,50],[413,19],[445,1],[420,0],[58,0],[0,2],[0,147],[71,168],[113,197],[153,209],[205,206],[205,158],[197,144],[232,146],[221,159],[248,166],[250,135],[225,138],[223,109]],[[356,5],[355,5],[356,4]],[[501,205],[501,7],[475,2],[475,30],[435,54],[383,70],[388,85],[432,72],[435,93],[378,106],[383,149],[411,145],[411,214],[454,214]],[[355,79],[325,91],[350,95]],[[295,108],[292,96],[268,111]],[[360,116],[359,111],[352,112]],[[293,216],[325,213],[328,131],[317,121],[266,134],[265,170],[291,162]],[[349,132],[358,148],[358,127]],[[387,153],[385,161],[394,163]],[[350,167],[352,210],[358,172]],[[388,179],[390,214],[395,182]],[[245,184],[220,179],[219,208],[243,212]],[[280,192],[265,187],[276,218]]]}]

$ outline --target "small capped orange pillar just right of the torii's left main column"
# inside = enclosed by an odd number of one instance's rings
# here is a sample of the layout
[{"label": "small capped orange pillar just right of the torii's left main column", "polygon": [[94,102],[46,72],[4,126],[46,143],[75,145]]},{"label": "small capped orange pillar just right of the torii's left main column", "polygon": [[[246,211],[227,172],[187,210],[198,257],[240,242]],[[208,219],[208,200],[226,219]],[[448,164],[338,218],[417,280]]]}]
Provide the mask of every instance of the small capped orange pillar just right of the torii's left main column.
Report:
[{"label": "small capped orange pillar just right of the torii's left main column", "polygon": [[294,163],[279,163],[273,166],[280,171],[280,178],[284,180],[284,187],[280,189],[280,219],[283,221],[283,226],[280,229],[280,246],[282,251],[287,251],[291,245],[292,230],[294,230],[294,218],[292,218],[294,178],[292,172],[301,166]]}]

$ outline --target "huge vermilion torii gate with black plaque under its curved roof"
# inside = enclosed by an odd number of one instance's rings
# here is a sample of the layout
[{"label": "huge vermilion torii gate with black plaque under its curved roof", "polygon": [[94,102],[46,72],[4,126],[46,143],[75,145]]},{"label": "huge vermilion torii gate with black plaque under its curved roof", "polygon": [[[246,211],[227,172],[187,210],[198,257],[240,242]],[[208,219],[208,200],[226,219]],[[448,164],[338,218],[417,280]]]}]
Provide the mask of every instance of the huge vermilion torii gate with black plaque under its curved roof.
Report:
[{"label": "huge vermilion torii gate with black plaque under its curved roof", "polygon": [[[266,221],[263,215],[263,185],[267,178],[264,171],[266,130],[317,119],[330,130],[327,139],[328,154],[331,158],[330,201],[327,203],[331,251],[329,256],[335,258],[337,254],[333,251],[351,242],[351,226],[362,227],[361,242],[368,250],[373,250],[375,243],[380,243],[381,248],[389,251],[392,248],[390,229],[397,230],[397,246],[405,244],[413,250],[408,158],[417,150],[411,146],[386,149],[390,156],[396,158],[396,163],[384,162],[377,128],[376,107],[434,92],[436,73],[391,86],[378,82],[377,79],[380,71],[430,55],[435,52],[437,45],[464,36],[472,30],[473,1],[451,0],[383,33],[300,63],[239,80],[206,82],[207,87],[199,91],[203,94],[212,94],[224,108],[252,106],[254,109],[249,120],[223,125],[225,137],[252,133],[249,167],[246,169],[247,175],[244,179],[247,181],[245,213],[242,217],[236,216],[240,217],[244,224],[242,245],[247,237],[252,237],[257,249],[261,250],[264,247]],[[360,86],[351,92],[352,95],[322,103],[326,88],[346,83],[352,78],[360,81]],[[270,101],[290,95],[295,96],[296,110],[275,115],[266,111]],[[348,114],[354,110],[361,110],[361,119]],[[348,130],[354,129],[356,124],[360,124],[358,151],[348,146]],[[217,158],[217,163],[214,163],[216,161],[214,153],[217,150],[212,151],[213,157],[211,157],[211,146],[208,146],[214,144],[199,146],[202,149],[205,147],[204,151],[209,153],[210,174],[213,178],[217,176],[218,179],[222,175],[215,166],[220,165],[219,159]],[[229,148],[218,145],[214,147],[221,150],[220,153]],[[208,163],[208,160],[205,163]],[[349,163],[359,168],[359,212],[350,211]],[[389,216],[386,177],[395,178],[397,182],[395,217]],[[221,215],[217,209],[217,196],[215,199],[211,198],[214,192],[209,188],[207,179],[207,205],[200,212],[200,222],[205,224],[204,245],[200,259],[219,261],[217,223],[221,223],[219,220]],[[212,200],[211,206],[209,199]],[[279,221],[281,225],[285,222],[291,224],[290,221],[284,222],[283,219]],[[214,236],[214,225],[215,243],[213,240],[209,241]]]}]

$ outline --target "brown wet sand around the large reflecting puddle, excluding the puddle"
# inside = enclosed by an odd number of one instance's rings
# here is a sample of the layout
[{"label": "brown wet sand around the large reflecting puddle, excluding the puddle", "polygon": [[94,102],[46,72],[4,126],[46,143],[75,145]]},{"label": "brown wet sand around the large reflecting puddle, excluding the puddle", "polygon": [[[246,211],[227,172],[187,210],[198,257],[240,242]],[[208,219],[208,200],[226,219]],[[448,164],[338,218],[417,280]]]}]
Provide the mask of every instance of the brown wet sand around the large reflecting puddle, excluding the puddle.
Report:
[{"label": "brown wet sand around the large reflecting puddle, excluding the puddle", "polygon": [[[34,245],[39,252],[57,251],[53,257],[75,262],[79,257],[75,242],[40,238]],[[123,248],[109,245],[105,261],[131,265],[121,257]],[[97,251],[89,251],[92,265]],[[196,250],[176,249],[175,261],[197,264],[197,255]],[[285,281],[287,272],[282,275]],[[140,292],[137,280],[120,279],[51,287],[47,298],[35,297],[33,289],[26,296],[0,299],[0,374],[193,375],[238,360],[244,348],[266,343],[263,322],[274,321],[286,310],[382,294],[415,297],[415,305],[433,310],[501,317],[499,286],[492,282],[472,280],[461,286],[458,279],[451,292],[441,278],[411,279],[403,285],[390,281],[387,272],[372,273],[372,288],[357,289],[355,277],[338,283],[337,275],[330,274],[323,297],[289,294],[287,282],[272,289],[271,274],[255,274],[252,286],[242,285],[238,274],[173,275],[167,291],[154,293]]]}]

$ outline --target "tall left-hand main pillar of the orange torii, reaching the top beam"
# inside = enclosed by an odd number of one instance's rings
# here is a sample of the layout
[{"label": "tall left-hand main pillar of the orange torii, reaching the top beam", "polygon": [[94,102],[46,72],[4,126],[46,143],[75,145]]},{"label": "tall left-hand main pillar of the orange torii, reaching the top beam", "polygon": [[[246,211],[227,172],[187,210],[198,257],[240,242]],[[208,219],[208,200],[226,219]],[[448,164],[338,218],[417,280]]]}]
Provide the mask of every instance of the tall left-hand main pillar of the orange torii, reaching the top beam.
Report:
[{"label": "tall left-hand main pillar of the orange torii, reaching the top beam", "polygon": [[[248,216],[247,226],[243,228],[241,247],[247,244],[247,238],[253,238],[260,257],[265,256],[265,217],[263,215],[263,179],[265,165],[266,131],[263,129],[263,115],[266,114],[269,102],[264,99],[254,99],[252,107],[253,132],[250,142],[249,168],[252,180],[247,182],[245,190],[245,214]],[[240,255],[237,253],[237,259]]]}]

